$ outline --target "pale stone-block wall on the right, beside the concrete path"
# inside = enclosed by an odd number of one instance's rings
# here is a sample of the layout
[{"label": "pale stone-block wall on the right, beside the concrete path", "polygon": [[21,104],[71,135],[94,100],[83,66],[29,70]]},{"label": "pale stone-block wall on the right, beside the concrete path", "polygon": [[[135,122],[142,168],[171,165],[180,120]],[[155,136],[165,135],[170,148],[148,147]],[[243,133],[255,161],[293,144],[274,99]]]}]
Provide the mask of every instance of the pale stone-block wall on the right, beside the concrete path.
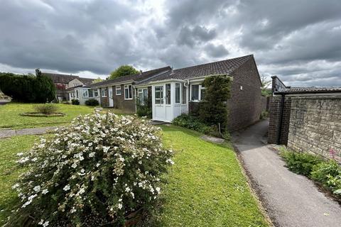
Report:
[{"label": "pale stone-block wall on the right, beside the concrete path", "polygon": [[341,96],[291,98],[288,148],[341,160]]}]

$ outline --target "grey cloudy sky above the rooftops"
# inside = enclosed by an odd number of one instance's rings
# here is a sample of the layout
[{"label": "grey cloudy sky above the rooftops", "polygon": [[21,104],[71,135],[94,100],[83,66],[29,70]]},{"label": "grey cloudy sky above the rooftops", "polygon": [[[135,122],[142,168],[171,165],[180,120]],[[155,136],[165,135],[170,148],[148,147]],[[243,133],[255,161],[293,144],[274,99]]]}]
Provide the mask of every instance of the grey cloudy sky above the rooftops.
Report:
[{"label": "grey cloudy sky above the rooftops", "polygon": [[0,0],[0,72],[105,78],[254,54],[291,86],[341,86],[341,1]]}]

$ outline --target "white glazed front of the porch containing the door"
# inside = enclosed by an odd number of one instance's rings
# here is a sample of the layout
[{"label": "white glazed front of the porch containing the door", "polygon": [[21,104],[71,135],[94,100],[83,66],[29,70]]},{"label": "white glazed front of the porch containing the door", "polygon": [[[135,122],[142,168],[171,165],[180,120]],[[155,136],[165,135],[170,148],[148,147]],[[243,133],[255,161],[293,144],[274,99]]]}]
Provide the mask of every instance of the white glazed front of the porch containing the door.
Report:
[{"label": "white glazed front of the porch containing the door", "polygon": [[153,86],[153,120],[171,122],[173,120],[172,84]]}]

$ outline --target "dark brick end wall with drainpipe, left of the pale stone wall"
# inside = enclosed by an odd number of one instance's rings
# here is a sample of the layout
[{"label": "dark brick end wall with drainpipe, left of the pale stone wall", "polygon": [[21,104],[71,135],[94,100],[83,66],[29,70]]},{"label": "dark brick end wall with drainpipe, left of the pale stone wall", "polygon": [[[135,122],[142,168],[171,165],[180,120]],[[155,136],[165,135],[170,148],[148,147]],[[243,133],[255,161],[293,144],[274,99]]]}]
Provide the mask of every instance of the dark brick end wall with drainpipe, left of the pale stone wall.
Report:
[{"label": "dark brick end wall with drainpipe, left of the pale stone wall", "polygon": [[[285,97],[283,105],[283,118],[281,126],[280,144],[288,143],[289,123],[291,116],[291,98]],[[278,142],[278,129],[281,118],[281,96],[272,96],[269,103],[269,129],[268,143]]]}]

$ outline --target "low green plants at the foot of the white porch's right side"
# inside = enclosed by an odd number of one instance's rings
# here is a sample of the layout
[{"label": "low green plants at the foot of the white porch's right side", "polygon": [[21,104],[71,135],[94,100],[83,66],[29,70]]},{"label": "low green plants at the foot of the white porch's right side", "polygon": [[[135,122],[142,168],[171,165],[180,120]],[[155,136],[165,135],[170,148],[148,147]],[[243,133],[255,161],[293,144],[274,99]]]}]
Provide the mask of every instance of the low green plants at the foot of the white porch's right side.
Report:
[{"label": "low green plants at the foot of the white porch's right side", "polygon": [[206,126],[205,123],[200,122],[198,118],[196,118],[195,116],[188,115],[188,114],[181,114],[180,116],[174,118],[172,123],[175,126],[190,128],[192,130],[195,130],[204,134],[211,134],[213,132],[212,127]]}]

